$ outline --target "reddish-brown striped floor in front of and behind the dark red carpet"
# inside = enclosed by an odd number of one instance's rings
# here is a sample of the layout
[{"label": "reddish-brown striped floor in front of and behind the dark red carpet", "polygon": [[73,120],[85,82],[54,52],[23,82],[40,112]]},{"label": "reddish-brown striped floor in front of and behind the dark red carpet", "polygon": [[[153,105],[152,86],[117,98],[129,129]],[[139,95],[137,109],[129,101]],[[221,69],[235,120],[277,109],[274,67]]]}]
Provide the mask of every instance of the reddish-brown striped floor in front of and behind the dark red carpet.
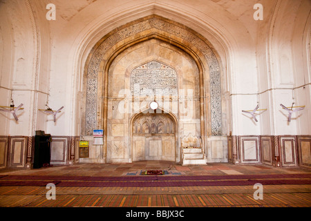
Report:
[{"label": "reddish-brown striped floor in front of and behind the dark red carpet", "polygon": [[[255,199],[252,185],[223,186],[57,186],[55,200],[48,200],[49,189],[43,185],[7,185],[0,182],[1,207],[311,207],[311,171],[308,169],[276,169],[270,166],[239,166],[233,164],[208,164],[204,166],[180,166],[172,162],[144,161],[131,164],[75,164],[73,166],[50,166],[31,170],[0,171],[3,179],[20,176],[44,177],[87,177],[84,182],[91,182],[92,177],[142,177],[142,170],[161,169],[173,177],[223,176],[228,180],[234,175],[306,175],[296,180],[308,184],[273,184],[263,185],[263,200]],[[18,176],[14,177],[18,180]],[[230,178],[229,178],[230,177]],[[24,178],[25,179],[25,178]],[[59,178],[60,179],[60,178]],[[172,178],[173,179],[173,178]],[[178,178],[180,179],[180,178]],[[272,179],[272,178],[271,178]],[[181,179],[182,180],[182,179]],[[272,179],[273,180],[273,179]],[[70,180],[68,182],[71,182]],[[122,181],[126,182],[126,181]],[[127,181],[131,182],[131,181]],[[163,181],[165,182],[165,180]],[[185,182],[186,183],[186,182]]]}]

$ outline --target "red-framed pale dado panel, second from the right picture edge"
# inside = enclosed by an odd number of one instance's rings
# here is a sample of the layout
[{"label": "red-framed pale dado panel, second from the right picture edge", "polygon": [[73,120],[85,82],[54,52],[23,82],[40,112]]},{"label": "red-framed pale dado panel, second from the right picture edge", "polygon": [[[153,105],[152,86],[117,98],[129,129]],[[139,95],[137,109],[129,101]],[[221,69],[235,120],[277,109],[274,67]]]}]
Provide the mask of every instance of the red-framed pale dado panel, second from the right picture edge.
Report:
[{"label": "red-framed pale dado panel, second from the right picture edge", "polygon": [[282,166],[297,166],[296,136],[280,137]]}]

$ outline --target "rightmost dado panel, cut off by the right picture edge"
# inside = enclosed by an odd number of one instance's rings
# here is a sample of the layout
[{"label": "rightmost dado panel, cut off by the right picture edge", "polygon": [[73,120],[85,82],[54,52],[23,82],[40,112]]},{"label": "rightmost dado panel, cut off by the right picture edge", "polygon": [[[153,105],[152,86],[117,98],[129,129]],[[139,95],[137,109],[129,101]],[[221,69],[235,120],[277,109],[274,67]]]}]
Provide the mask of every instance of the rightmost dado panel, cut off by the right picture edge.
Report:
[{"label": "rightmost dado panel, cut off by the right picture edge", "polygon": [[297,140],[299,165],[311,169],[311,137],[299,136]]}]

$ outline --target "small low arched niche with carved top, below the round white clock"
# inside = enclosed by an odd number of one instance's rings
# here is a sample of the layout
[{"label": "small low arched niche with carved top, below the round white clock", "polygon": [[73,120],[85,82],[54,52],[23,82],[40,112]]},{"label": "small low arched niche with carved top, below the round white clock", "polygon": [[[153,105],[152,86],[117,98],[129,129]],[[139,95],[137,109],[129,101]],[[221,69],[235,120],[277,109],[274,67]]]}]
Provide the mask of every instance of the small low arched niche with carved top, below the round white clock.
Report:
[{"label": "small low arched niche with carved top, below the round white clock", "polygon": [[[147,130],[144,125],[148,125]],[[153,131],[152,125],[156,128]],[[158,131],[162,124],[163,131]],[[180,162],[180,148],[178,147],[178,119],[169,110],[159,107],[156,110],[144,108],[135,113],[130,119],[131,148],[129,158],[131,162],[140,160],[167,160]],[[139,129],[137,126],[140,125]],[[169,131],[167,131],[169,125]]]}]

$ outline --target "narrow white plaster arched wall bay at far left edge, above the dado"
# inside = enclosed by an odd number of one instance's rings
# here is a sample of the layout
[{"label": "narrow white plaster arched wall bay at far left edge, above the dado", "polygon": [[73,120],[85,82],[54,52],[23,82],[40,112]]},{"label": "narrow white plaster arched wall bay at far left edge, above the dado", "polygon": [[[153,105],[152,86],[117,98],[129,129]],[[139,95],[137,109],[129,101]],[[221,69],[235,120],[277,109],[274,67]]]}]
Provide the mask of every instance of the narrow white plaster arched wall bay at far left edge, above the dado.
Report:
[{"label": "narrow white plaster arched wall bay at far left edge, above the dado", "polygon": [[23,103],[16,122],[10,114],[1,112],[1,135],[29,135],[32,122],[29,120],[32,102],[32,61],[34,59],[33,32],[29,11],[24,2],[4,1],[0,6],[1,34],[1,106],[10,106],[11,97],[15,106]]}]

